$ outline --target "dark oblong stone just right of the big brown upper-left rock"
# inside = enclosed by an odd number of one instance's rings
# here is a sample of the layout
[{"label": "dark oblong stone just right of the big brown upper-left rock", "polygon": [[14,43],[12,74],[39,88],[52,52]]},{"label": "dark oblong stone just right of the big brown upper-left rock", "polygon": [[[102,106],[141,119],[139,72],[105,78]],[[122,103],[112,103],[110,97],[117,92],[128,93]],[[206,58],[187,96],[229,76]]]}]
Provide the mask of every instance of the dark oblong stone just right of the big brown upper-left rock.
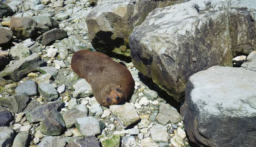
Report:
[{"label": "dark oblong stone just right of the big brown upper-left rock", "polygon": [[64,37],[67,37],[66,31],[59,28],[53,28],[38,37],[37,41],[41,42],[42,45],[47,45],[52,41],[59,40]]}]

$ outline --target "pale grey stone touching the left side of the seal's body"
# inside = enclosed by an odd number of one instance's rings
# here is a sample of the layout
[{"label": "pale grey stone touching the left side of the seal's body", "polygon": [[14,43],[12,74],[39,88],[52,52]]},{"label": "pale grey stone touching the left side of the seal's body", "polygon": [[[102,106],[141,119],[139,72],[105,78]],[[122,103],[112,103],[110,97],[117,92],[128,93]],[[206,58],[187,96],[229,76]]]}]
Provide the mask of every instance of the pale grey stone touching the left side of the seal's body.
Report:
[{"label": "pale grey stone touching the left side of the seal's body", "polygon": [[73,93],[74,98],[93,95],[92,88],[85,79],[80,79],[78,82],[76,82],[76,84],[73,85],[73,88],[75,88],[75,91]]}]

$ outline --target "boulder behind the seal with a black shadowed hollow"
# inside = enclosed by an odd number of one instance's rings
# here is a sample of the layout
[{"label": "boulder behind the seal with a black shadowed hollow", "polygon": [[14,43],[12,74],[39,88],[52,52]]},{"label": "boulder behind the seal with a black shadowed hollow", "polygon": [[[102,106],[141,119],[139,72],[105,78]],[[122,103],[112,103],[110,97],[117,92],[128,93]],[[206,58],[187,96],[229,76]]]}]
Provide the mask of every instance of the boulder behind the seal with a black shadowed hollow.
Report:
[{"label": "boulder behind the seal with a black shadowed hollow", "polygon": [[87,16],[90,42],[96,50],[130,57],[129,35],[150,11],[176,0],[102,0]]}]

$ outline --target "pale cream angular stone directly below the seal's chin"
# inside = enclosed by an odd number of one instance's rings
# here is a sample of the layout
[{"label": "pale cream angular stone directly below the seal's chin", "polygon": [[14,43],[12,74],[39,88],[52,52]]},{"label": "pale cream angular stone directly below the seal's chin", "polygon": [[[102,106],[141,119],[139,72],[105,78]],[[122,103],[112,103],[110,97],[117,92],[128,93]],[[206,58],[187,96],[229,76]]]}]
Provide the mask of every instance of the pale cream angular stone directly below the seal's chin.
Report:
[{"label": "pale cream angular stone directly below the seal's chin", "polygon": [[140,120],[134,106],[128,102],[124,105],[111,105],[109,106],[113,118],[121,125],[122,128],[127,128],[131,124]]}]

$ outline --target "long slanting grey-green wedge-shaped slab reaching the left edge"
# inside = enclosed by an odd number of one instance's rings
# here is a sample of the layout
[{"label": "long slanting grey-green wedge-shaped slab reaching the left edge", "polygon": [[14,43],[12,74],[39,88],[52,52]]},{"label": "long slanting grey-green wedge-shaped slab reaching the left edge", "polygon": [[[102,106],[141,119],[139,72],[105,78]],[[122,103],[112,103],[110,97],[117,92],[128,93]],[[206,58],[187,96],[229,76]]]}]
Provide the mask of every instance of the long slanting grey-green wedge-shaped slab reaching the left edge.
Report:
[{"label": "long slanting grey-green wedge-shaped slab reaching the left edge", "polygon": [[15,62],[8,68],[0,72],[0,76],[6,76],[7,78],[18,81],[26,74],[36,71],[37,67],[43,66],[44,61],[41,59],[39,54],[32,54],[19,62]]}]

